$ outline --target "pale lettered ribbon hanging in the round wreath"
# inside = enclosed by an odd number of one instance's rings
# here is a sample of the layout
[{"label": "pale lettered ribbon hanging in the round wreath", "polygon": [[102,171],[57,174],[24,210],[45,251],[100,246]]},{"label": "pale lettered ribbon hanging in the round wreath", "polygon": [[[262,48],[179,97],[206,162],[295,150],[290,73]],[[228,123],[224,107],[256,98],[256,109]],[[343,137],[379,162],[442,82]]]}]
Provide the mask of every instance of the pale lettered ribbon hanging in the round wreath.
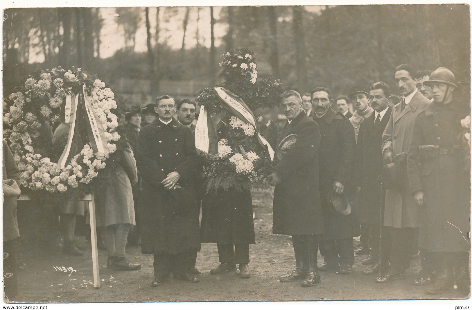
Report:
[{"label": "pale lettered ribbon hanging in the round wreath", "polygon": [[85,85],[82,87],[82,91],[75,95],[72,100],[73,94],[66,95],[66,107],[64,109],[66,123],[72,123],[67,137],[67,144],[62,152],[58,167],[64,169],[67,162],[76,154],[73,154],[73,146],[80,141],[80,120],[85,119],[85,126],[87,130],[88,140],[92,146],[93,153],[101,152],[108,156],[108,145],[105,138],[105,131],[101,126],[100,119],[97,117],[95,110],[90,103],[90,99],[87,96]]}]

